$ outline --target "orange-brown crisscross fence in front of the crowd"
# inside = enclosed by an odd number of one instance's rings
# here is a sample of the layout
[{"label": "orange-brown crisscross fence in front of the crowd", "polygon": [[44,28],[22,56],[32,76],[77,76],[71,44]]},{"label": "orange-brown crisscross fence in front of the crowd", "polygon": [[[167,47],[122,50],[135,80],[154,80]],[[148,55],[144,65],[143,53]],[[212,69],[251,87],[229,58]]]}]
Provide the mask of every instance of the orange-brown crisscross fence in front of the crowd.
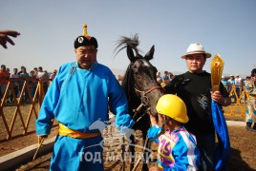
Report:
[{"label": "orange-brown crisscross fence in front of the crowd", "polygon": [[[0,79],[1,80],[1,79]],[[44,85],[50,85],[50,79],[6,79],[8,85],[0,103],[0,142],[34,132],[34,122],[45,96]],[[17,93],[17,83],[18,93]],[[32,90],[32,84],[35,85]],[[233,103],[224,107],[224,115],[245,116],[245,87],[233,85],[230,97]],[[11,100],[11,101],[10,101]],[[56,122],[53,125],[57,125]]]}]

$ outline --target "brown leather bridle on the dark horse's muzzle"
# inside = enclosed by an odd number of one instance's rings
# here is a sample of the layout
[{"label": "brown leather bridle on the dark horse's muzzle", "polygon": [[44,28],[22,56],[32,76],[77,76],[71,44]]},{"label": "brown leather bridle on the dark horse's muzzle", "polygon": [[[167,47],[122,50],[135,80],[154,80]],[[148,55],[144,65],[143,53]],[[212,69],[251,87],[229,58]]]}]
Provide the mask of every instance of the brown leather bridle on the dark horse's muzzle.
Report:
[{"label": "brown leather bridle on the dark horse's muzzle", "polygon": [[142,106],[146,107],[146,111],[139,117],[139,119],[135,122],[139,122],[139,120],[145,115],[145,114],[151,114],[151,110],[150,110],[150,104],[149,104],[149,98],[147,97],[147,94],[156,90],[156,89],[161,89],[164,91],[164,88],[162,86],[154,86],[146,91],[140,91],[139,89],[135,88],[135,90],[137,92],[139,92],[141,94],[141,103],[139,104],[139,106],[136,109],[133,109],[133,112],[135,113],[133,116],[133,119],[135,119],[135,117],[137,116],[137,114],[140,112],[140,109]]}]

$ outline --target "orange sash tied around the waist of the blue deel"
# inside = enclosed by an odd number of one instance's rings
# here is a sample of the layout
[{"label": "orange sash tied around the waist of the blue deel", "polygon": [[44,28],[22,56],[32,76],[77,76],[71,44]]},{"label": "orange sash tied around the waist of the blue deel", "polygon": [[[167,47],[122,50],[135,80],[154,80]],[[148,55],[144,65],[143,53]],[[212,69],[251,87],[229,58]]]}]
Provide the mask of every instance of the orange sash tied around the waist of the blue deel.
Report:
[{"label": "orange sash tied around the waist of the blue deel", "polygon": [[82,133],[73,129],[68,128],[62,123],[58,123],[58,135],[68,136],[74,139],[89,139],[101,135],[100,132],[96,133]]}]

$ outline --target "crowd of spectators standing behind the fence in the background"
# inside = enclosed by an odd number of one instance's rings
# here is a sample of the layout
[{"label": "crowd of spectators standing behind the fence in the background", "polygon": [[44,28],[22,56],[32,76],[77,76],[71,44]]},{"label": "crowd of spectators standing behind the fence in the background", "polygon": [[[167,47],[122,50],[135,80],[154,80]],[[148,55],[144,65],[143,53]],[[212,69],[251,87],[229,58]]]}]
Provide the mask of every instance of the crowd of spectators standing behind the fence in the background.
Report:
[{"label": "crowd of spectators standing behind the fence in the background", "polygon": [[[5,65],[1,66],[0,69],[0,98],[2,99],[5,93],[5,90],[8,85],[8,79],[5,78],[36,78],[36,79],[51,79],[55,77],[57,73],[56,69],[53,69],[53,72],[48,72],[47,70],[43,70],[42,66],[39,67],[33,67],[33,69],[28,73],[27,68],[25,66],[21,66],[20,70],[18,68],[13,68],[12,72],[9,67],[6,67]],[[161,76],[160,71],[157,72],[157,82],[161,86],[165,86],[166,84],[169,84],[172,79],[175,77],[175,75],[172,72],[169,72],[165,70],[163,72],[163,75]],[[4,79],[1,79],[4,78]],[[239,74],[230,75],[230,76],[222,76],[221,82],[223,83],[224,87],[227,89],[227,91],[230,93],[232,90],[233,85],[235,85],[235,92],[232,91],[231,98],[232,103],[237,102],[237,98],[240,98],[241,92],[243,90],[243,85],[245,85],[245,81],[248,80],[250,77],[247,76],[245,79],[241,78]],[[121,84],[121,81],[123,79],[122,75],[117,75],[117,81]],[[48,86],[51,84],[49,81],[43,81],[43,88],[44,92],[47,92]],[[22,87],[24,85],[24,80],[21,81],[13,81],[13,90],[16,97],[20,96]],[[34,96],[35,89],[37,86],[37,81],[30,81],[30,90],[32,97]],[[27,88],[25,88],[25,95],[24,95],[24,101],[29,101],[29,93]],[[246,96],[245,96],[246,100]],[[9,98],[8,103],[13,103],[13,95],[11,94],[11,90],[9,91]]]}]

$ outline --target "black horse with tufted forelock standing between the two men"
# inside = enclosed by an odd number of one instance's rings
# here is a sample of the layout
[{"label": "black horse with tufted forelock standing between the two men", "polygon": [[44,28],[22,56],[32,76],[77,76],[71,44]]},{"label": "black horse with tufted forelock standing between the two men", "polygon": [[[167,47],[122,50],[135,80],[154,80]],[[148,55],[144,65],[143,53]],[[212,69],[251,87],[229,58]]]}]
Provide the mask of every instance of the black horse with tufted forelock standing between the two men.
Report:
[{"label": "black horse with tufted forelock standing between the two men", "polygon": [[[131,38],[122,36],[117,41],[117,53],[126,48],[130,65],[127,67],[121,86],[124,88],[129,106],[129,113],[136,122],[134,130],[141,130],[143,142],[149,148],[149,142],[145,141],[147,130],[151,126],[150,116],[157,116],[156,104],[163,95],[161,86],[157,83],[157,68],[149,62],[153,59],[155,47],[146,53],[143,57],[139,54],[139,36],[136,34]],[[135,53],[134,53],[135,52]],[[130,137],[131,144],[135,144],[135,137]],[[135,156],[135,146],[130,145],[131,156]],[[148,155],[148,154],[144,154]],[[146,159],[146,158],[144,158]],[[134,158],[131,158],[130,169],[134,167]],[[148,170],[147,164],[143,162],[142,170]]]}]

